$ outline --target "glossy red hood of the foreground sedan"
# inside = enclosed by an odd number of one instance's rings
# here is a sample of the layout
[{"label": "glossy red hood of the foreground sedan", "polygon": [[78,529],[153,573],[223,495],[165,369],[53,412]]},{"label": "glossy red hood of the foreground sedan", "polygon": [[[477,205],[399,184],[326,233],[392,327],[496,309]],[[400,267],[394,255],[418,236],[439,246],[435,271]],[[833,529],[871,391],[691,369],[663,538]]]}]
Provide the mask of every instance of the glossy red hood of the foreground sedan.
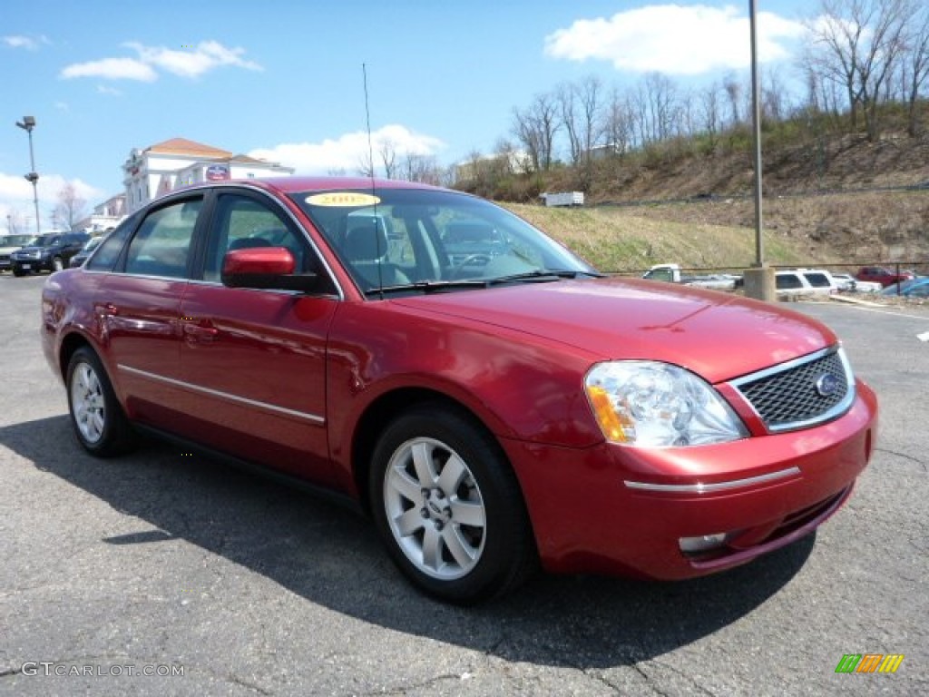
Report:
[{"label": "glossy red hood of the foreground sedan", "polygon": [[655,281],[527,283],[394,302],[558,341],[596,361],[675,363],[713,383],[837,341],[821,323],[777,305]]}]

